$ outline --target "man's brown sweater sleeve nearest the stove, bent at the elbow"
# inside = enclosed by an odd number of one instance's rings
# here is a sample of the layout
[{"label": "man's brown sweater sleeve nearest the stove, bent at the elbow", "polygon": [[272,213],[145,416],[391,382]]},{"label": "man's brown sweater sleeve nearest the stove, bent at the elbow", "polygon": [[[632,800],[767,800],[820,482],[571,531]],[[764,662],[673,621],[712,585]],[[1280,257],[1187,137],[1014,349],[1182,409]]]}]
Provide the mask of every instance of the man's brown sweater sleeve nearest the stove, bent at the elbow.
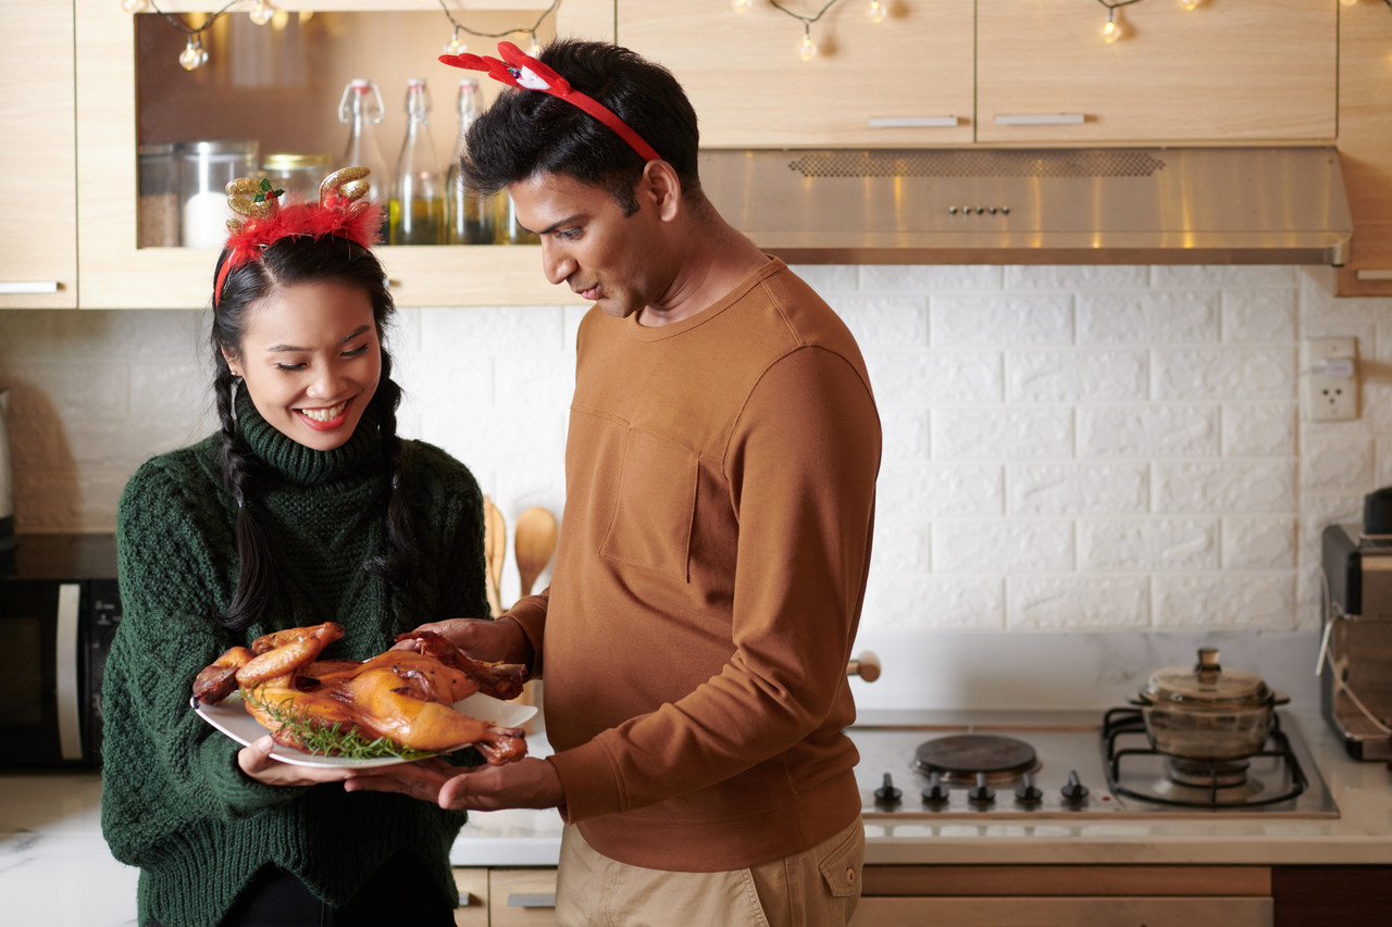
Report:
[{"label": "man's brown sweater sleeve nearest the stove, bent at the elbow", "polygon": [[551,759],[568,820],[725,781],[827,722],[870,562],[880,441],[869,384],[839,355],[802,348],[763,376],[725,458],[735,651],[685,697]]}]

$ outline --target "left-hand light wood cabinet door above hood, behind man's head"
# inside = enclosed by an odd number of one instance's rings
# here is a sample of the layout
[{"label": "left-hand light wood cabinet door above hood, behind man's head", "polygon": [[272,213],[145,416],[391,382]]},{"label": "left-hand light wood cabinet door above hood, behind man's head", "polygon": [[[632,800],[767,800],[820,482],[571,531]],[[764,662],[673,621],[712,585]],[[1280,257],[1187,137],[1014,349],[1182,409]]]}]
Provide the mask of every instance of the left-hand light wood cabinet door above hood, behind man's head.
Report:
[{"label": "left-hand light wood cabinet door above hood, behind man's head", "polygon": [[[821,3],[788,3],[814,15]],[[1013,4],[1011,4],[1013,6]],[[617,0],[618,43],[672,70],[704,148],[903,148],[972,141],[973,1],[837,3],[812,26],[767,3]]]}]

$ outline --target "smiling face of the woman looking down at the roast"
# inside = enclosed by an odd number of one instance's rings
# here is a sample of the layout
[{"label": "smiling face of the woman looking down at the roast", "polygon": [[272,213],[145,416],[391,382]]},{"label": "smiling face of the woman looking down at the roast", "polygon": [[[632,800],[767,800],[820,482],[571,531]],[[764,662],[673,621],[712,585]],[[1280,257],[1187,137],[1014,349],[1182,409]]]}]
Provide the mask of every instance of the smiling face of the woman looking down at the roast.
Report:
[{"label": "smiling face of the woman looking down at the roast", "polygon": [[239,354],[223,356],[256,411],[316,451],[342,447],[381,379],[372,298],[359,287],[277,287],[246,309]]}]

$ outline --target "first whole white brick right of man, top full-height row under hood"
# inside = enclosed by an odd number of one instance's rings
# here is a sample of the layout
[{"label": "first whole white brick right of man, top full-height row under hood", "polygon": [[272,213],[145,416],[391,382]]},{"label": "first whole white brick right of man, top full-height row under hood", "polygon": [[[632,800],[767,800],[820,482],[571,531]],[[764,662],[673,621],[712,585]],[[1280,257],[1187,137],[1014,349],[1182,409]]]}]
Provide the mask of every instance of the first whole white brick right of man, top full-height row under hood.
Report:
[{"label": "first whole white brick right of man, top full-height row under hood", "polygon": [[1066,294],[934,296],[935,348],[1072,344],[1073,298]]}]

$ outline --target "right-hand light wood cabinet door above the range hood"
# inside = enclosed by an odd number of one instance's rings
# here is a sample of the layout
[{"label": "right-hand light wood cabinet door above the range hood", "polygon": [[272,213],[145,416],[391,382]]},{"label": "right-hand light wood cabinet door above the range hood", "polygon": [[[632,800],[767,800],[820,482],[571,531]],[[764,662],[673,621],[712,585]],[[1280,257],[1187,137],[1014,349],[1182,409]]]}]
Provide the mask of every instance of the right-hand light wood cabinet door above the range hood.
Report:
[{"label": "right-hand light wood cabinet door above the range hood", "polygon": [[1098,3],[979,3],[976,139],[1334,139],[1338,0],[1147,0],[1115,19],[1107,43]]}]

